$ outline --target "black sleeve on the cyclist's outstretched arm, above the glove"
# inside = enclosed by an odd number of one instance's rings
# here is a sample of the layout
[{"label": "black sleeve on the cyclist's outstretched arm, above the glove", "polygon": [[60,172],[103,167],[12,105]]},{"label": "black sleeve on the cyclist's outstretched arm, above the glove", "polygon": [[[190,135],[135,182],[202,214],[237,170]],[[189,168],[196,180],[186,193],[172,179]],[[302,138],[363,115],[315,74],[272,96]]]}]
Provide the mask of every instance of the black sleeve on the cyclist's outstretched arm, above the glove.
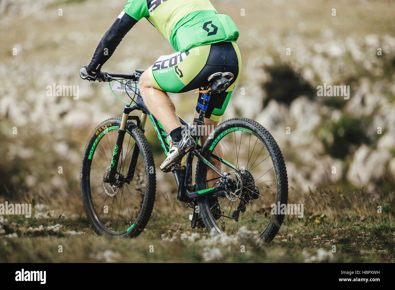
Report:
[{"label": "black sleeve on the cyclist's outstretched arm, above the glove", "polygon": [[94,72],[100,71],[103,64],[113,55],[122,38],[136,23],[137,20],[133,17],[130,17],[126,13],[121,13],[96,47],[96,51],[88,65],[88,70]]}]

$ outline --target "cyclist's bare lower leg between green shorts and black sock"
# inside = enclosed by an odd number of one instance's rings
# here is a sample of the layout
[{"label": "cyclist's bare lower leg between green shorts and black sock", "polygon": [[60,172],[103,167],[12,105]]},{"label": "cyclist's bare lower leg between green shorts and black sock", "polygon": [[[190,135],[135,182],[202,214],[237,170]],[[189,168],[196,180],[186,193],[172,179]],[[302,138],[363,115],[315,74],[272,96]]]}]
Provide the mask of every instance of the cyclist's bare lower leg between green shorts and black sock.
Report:
[{"label": "cyclist's bare lower leg between green shorts and black sock", "polygon": [[[150,68],[149,68],[150,69]],[[181,127],[174,103],[166,92],[158,90],[149,77],[148,70],[140,77],[140,92],[150,113],[164,126],[167,132]]]}]

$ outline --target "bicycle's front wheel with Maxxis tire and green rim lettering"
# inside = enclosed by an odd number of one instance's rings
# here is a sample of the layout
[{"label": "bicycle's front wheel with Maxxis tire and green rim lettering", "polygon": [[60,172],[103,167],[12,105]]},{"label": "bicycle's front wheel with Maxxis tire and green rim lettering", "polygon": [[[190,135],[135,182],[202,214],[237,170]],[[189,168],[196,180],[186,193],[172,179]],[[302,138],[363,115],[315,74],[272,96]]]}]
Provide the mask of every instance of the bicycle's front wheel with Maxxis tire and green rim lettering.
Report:
[{"label": "bicycle's front wheel with Maxxis tire and green rim lettering", "polygon": [[[127,158],[129,157],[130,159],[130,156],[132,155],[132,147],[129,147],[129,144],[130,141],[132,141],[134,144],[137,144],[139,148],[139,159],[137,161],[137,165],[135,166],[134,179],[132,181],[129,181],[129,183],[125,182],[122,185],[122,188],[117,189],[116,187],[114,187],[115,190],[113,191],[111,191],[112,189],[107,189],[105,187],[108,185],[108,183],[103,183],[103,172],[107,171],[108,168],[106,168],[106,166],[110,165],[110,161],[108,160],[111,160],[111,158],[108,158],[108,155],[112,156],[112,148],[114,147],[115,141],[117,139],[120,123],[121,118],[116,117],[107,119],[100,125],[98,125],[93,131],[92,135],[90,135],[87,145],[85,146],[81,163],[81,196],[85,213],[90,222],[90,225],[98,235],[111,237],[136,237],[143,231],[143,229],[147,225],[150,215],[152,213],[152,209],[154,207],[156,193],[155,164],[151,148],[143,131],[139,127],[137,127],[135,123],[133,123],[132,121],[128,121],[126,125],[124,143],[122,146],[122,150],[120,151],[121,159],[119,161],[117,169],[122,174],[125,170],[127,170],[126,168],[128,168],[130,162],[130,160],[128,161]],[[109,137],[110,134],[111,137]],[[106,135],[107,138],[104,138],[104,136]],[[129,142],[126,151],[125,142]],[[109,149],[107,150],[106,148]],[[104,154],[102,152],[103,150]],[[111,152],[108,152],[110,150]],[[97,158],[95,159],[95,157]],[[96,162],[93,160],[95,160]],[[117,174],[116,176],[119,175]],[[91,182],[94,183],[93,185],[98,184],[98,186],[91,187]],[[100,186],[100,183],[103,183],[103,185]],[[96,188],[98,190],[96,190]],[[97,192],[103,189],[104,191],[98,195],[94,193],[94,197],[92,198],[92,191]],[[110,193],[110,195],[107,192]],[[115,195],[111,197],[111,194],[114,194],[114,192]],[[119,198],[117,198],[117,196]],[[93,200],[96,197],[99,198],[98,201]],[[107,217],[104,220],[105,204],[107,198],[109,198],[108,204],[112,205],[113,208],[107,210]],[[102,199],[104,199],[104,201],[102,202],[103,206],[100,208],[100,204],[99,206],[97,206],[97,204]],[[114,205],[115,202],[117,207],[115,207]],[[140,206],[141,208],[139,210]],[[116,227],[116,217],[114,219],[114,223],[112,223],[114,208],[115,215],[117,215],[116,211],[118,210]],[[110,211],[111,221],[108,225],[107,219],[109,218]]]}]

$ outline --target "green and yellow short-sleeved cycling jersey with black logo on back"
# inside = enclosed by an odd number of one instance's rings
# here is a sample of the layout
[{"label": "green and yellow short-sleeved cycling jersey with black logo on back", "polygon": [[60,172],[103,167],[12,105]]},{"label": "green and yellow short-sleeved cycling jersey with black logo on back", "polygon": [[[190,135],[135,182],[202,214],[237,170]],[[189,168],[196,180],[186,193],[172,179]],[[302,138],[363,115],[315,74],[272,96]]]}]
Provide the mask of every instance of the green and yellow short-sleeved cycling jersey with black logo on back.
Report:
[{"label": "green and yellow short-sleeved cycling jersey with black logo on back", "polygon": [[209,0],[129,0],[122,13],[147,18],[179,52],[199,45],[236,41],[239,30]]}]

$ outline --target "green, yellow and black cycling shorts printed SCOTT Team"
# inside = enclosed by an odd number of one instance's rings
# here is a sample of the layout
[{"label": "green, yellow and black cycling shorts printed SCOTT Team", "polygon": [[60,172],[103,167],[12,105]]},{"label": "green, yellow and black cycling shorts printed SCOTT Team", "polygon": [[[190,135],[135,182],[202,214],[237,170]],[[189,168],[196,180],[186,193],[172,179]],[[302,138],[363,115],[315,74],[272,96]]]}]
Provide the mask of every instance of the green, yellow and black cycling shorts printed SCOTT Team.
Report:
[{"label": "green, yellow and black cycling shorts printed SCOTT Team", "polygon": [[[235,42],[223,41],[193,47],[186,52],[164,55],[149,67],[149,77],[158,90],[183,93],[206,86],[207,78],[217,72],[235,76],[229,88],[211,96],[206,118],[219,121],[228,106],[230,96],[241,73],[241,56]],[[201,93],[198,102],[202,103]],[[199,105],[196,111],[200,112]]]}]

